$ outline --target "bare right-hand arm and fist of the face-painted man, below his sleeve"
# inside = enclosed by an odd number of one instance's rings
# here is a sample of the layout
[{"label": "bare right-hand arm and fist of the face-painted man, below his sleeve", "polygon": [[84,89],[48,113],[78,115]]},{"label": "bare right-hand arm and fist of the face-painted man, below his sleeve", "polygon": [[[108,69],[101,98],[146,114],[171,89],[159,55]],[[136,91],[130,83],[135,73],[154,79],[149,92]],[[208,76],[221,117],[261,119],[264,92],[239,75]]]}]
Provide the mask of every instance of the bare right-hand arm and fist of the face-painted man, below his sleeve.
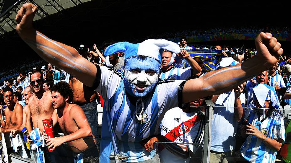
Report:
[{"label": "bare right-hand arm and fist of the face-painted man, below his sleeve", "polygon": [[261,32],[255,43],[256,57],[239,65],[208,72],[203,77],[188,80],[183,88],[183,103],[230,91],[275,64],[283,53],[281,44],[271,33]]}]

